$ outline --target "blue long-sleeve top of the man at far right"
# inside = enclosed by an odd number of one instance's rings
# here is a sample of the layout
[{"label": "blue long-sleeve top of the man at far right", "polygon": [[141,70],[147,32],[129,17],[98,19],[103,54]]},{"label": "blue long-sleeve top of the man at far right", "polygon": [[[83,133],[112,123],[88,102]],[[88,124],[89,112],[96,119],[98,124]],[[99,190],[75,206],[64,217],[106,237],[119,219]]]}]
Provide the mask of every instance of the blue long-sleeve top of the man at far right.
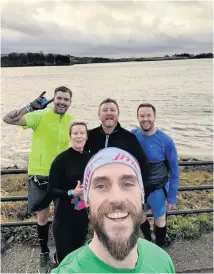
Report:
[{"label": "blue long-sleeve top of the man at far right", "polygon": [[176,204],[179,164],[178,153],[172,138],[158,129],[151,136],[144,135],[141,128],[133,129],[131,132],[136,135],[150,162],[151,173],[148,187],[152,186],[153,189],[158,189],[169,182],[167,202]]}]

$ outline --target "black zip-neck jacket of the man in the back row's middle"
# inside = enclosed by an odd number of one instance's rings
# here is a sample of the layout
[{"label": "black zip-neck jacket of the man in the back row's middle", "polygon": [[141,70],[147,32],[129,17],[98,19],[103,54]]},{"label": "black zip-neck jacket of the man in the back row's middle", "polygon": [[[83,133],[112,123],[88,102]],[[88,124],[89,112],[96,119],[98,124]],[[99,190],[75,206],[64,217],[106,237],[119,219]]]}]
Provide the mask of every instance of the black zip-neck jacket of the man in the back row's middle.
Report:
[{"label": "black zip-neck jacket of the man in the back row's middle", "polygon": [[139,162],[144,186],[146,185],[149,176],[149,161],[133,133],[122,128],[120,123],[111,134],[106,134],[102,126],[89,130],[85,148],[90,150],[91,155],[105,147],[118,147],[131,153]]}]

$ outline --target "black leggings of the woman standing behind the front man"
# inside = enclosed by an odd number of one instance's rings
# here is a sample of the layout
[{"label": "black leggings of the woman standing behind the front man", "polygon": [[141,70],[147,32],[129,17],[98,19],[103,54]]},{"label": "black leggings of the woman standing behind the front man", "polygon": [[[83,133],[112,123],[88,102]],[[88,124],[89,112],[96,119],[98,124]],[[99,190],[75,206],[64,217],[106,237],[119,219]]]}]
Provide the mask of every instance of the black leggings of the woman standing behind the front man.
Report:
[{"label": "black leggings of the woman standing behind the front man", "polygon": [[53,235],[59,263],[69,253],[84,245],[87,233],[88,215],[84,209],[54,218]]}]

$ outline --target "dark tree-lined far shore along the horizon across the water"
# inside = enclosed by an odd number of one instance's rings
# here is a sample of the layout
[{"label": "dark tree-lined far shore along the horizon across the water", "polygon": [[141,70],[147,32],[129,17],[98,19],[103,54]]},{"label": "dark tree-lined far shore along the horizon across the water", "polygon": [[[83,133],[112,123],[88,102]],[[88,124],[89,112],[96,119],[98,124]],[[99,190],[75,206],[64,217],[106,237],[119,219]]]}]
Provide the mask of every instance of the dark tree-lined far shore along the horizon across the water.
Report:
[{"label": "dark tree-lined far shore along the horizon across the water", "polygon": [[198,58],[213,58],[213,53],[201,54],[174,54],[172,56],[165,55],[164,57],[151,58],[104,58],[104,57],[75,57],[62,54],[44,54],[39,53],[16,53],[1,55],[1,67],[24,67],[24,66],[68,66],[74,64],[88,63],[109,63],[109,62],[129,62],[129,61],[152,61],[152,60],[176,60],[176,59],[198,59]]}]

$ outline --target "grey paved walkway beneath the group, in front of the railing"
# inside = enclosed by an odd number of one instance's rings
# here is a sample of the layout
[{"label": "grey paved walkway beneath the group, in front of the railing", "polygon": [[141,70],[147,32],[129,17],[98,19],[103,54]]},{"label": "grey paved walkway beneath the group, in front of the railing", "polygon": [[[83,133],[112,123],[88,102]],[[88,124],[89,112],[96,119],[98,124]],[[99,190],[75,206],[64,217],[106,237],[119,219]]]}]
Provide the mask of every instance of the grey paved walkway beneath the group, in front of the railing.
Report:
[{"label": "grey paved walkway beneath the group, in front of the railing", "polygon": [[[213,273],[212,233],[194,241],[174,242],[166,251],[171,255],[177,273]],[[1,256],[1,273],[38,273],[38,260],[38,246],[14,244]]]}]

